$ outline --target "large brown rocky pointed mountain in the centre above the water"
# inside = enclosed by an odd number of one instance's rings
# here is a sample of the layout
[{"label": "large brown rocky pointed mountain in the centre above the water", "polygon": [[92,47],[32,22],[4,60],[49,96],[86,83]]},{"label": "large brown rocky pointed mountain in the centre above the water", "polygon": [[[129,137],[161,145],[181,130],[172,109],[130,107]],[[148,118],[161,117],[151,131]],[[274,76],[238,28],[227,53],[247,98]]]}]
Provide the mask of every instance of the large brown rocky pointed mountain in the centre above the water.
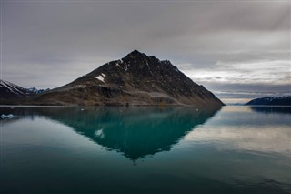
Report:
[{"label": "large brown rocky pointed mountain in the centre above the water", "polygon": [[224,105],[168,60],[137,50],[35,97],[41,105]]}]

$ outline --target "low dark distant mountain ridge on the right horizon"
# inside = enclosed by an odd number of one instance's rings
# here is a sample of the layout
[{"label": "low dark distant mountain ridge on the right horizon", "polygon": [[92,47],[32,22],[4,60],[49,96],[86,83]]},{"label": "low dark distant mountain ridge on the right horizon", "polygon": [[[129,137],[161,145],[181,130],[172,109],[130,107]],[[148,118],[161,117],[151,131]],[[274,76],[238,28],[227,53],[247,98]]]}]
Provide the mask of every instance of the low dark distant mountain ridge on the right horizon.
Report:
[{"label": "low dark distant mountain ridge on the right horizon", "polygon": [[246,105],[290,105],[291,106],[291,96],[256,98],[246,103]]}]

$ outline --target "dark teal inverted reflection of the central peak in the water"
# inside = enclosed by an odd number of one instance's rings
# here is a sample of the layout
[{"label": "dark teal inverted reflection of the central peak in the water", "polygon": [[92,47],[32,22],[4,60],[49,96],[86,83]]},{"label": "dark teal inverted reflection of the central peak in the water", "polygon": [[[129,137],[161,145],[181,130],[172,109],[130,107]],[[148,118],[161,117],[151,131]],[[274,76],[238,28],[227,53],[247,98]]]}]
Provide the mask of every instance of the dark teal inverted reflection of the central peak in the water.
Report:
[{"label": "dark teal inverted reflection of the central peak in the water", "polygon": [[95,143],[132,160],[170,150],[217,109],[196,107],[63,107],[40,115],[57,120]]}]

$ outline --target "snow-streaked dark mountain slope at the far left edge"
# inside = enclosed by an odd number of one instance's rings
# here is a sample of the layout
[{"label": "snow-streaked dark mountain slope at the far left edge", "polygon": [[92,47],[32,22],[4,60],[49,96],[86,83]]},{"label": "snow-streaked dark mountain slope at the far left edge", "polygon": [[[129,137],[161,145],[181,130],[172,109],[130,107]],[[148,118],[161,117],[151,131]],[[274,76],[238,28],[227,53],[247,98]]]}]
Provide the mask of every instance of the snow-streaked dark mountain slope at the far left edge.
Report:
[{"label": "snow-streaked dark mountain slope at the far left edge", "polygon": [[24,87],[19,87],[11,82],[0,80],[0,98],[27,97],[30,92]]}]

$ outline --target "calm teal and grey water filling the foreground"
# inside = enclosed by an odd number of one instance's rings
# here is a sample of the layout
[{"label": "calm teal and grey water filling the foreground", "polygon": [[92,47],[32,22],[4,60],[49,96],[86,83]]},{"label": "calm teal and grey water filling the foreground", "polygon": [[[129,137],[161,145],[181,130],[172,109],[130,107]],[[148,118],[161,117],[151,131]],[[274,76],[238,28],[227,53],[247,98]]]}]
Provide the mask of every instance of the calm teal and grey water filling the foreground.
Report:
[{"label": "calm teal and grey water filling the foreground", "polygon": [[1,193],[291,192],[291,107],[3,113]]}]

